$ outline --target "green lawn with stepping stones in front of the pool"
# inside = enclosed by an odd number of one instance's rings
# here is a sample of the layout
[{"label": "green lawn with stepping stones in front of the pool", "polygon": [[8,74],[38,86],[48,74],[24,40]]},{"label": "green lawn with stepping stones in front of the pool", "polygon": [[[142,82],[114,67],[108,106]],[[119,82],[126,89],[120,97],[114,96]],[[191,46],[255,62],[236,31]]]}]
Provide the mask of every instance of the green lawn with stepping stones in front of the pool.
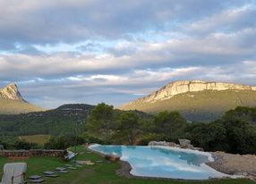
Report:
[{"label": "green lawn with stepping stones in front of the pool", "polygon": [[[78,147],[78,160],[90,160],[96,162],[98,160],[104,161],[103,163],[96,163],[95,165],[86,165],[78,170],[70,171],[66,174],[60,174],[58,178],[46,178],[44,183],[49,184],[153,184],[153,183],[169,183],[169,184],[182,184],[190,183],[188,181],[177,180],[152,180],[152,179],[126,179],[115,175],[115,171],[120,168],[119,163],[107,163],[100,155],[95,153],[88,153],[83,146]],[[4,163],[7,163],[7,158],[0,158],[0,171],[3,171]],[[64,166],[66,162],[59,158],[53,157],[40,157],[30,158],[28,161],[27,176],[33,174],[41,174],[43,171],[54,171],[55,167]],[[193,182],[194,184],[210,183],[210,184],[249,184],[254,183],[252,180],[209,180]]]}]

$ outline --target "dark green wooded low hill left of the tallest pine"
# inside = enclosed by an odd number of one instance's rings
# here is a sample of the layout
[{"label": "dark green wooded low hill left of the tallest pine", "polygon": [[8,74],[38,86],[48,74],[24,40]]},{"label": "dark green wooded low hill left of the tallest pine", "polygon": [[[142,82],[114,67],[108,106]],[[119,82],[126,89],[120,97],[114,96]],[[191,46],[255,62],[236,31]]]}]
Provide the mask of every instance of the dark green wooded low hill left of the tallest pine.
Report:
[{"label": "dark green wooded low hill left of the tallest pine", "polygon": [[2,114],[0,130],[5,136],[73,134],[75,124],[77,130],[85,129],[93,108],[93,105],[62,105],[45,112]]}]

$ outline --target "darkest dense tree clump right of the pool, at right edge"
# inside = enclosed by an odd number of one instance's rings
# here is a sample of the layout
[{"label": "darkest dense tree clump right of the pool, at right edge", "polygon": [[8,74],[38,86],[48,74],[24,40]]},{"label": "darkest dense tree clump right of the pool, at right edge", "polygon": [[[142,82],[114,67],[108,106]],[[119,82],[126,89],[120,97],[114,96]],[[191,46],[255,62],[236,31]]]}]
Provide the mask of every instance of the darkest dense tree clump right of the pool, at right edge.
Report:
[{"label": "darkest dense tree clump right of the pool, at right edge", "polygon": [[249,121],[225,117],[209,123],[192,123],[186,131],[194,146],[201,146],[207,151],[256,153],[256,127]]}]

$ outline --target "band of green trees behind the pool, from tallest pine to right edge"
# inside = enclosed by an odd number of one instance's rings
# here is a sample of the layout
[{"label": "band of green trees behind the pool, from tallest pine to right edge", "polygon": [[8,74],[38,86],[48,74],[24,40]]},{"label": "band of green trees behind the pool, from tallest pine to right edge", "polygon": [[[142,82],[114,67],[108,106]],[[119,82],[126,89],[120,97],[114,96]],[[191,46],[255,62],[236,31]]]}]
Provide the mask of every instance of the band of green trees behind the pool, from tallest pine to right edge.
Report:
[{"label": "band of green trees behind the pool, from tallest pine to right edge", "polygon": [[147,145],[150,140],[177,142],[189,138],[207,151],[256,154],[256,108],[237,107],[217,121],[187,122],[178,112],[161,112],[145,118],[137,112],[120,112],[100,104],[90,114],[85,137],[89,142]]}]

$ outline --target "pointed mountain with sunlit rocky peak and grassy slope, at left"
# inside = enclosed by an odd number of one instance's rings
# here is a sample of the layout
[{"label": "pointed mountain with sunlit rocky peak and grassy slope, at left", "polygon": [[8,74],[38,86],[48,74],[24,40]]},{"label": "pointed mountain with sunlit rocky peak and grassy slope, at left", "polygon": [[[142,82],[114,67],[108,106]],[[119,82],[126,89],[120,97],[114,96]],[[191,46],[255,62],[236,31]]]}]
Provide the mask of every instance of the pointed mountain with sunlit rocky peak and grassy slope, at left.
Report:
[{"label": "pointed mountain with sunlit rocky peak and grassy slope, at left", "polygon": [[0,114],[18,114],[44,111],[25,101],[15,84],[0,89]]}]

